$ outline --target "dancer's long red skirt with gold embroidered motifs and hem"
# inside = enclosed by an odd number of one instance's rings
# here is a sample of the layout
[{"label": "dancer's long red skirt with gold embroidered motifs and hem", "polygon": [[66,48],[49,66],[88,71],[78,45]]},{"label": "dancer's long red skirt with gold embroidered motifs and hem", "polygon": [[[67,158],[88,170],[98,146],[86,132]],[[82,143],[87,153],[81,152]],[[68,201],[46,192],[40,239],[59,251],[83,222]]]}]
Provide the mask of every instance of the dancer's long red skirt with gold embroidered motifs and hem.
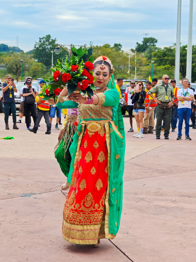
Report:
[{"label": "dancer's long red skirt with gold embroidered motifs and hem", "polygon": [[85,130],[63,212],[62,235],[70,243],[96,244],[105,238],[108,149],[105,127]]}]

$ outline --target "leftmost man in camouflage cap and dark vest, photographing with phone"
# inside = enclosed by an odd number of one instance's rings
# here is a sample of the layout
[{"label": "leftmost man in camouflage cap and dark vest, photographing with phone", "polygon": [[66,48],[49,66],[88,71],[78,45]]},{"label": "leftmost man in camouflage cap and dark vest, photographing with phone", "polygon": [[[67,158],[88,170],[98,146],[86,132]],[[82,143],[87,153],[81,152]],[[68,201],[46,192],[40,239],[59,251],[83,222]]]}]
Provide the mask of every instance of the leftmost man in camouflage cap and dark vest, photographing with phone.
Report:
[{"label": "leftmost man in camouflage cap and dark vest, photographing with phone", "polygon": [[2,85],[3,91],[3,106],[4,106],[4,120],[5,120],[5,129],[9,130],[8,118],[9,118],[9,108],[11,109],[12,119],[13,119],[13,129],[19,129],[16,125],[16,105],[14,100],[14,92],[17,92],[17,89],[14,84],[14,79],[11,78],[11,75],[6,75],[6,82]]}]

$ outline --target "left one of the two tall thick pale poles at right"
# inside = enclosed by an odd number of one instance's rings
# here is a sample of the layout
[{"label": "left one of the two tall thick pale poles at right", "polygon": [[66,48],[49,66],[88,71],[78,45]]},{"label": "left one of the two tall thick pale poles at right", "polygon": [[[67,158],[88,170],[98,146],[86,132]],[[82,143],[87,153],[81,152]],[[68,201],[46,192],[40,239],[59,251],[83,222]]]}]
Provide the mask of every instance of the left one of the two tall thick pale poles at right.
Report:
[{"label": "left one of the two tall thick pale poles at right", "polygon": [[180,80],[180,26],[181,26],[181,0],[178,0],[175,75],[174,75],[176,84],[179,84],[179,80]]}]

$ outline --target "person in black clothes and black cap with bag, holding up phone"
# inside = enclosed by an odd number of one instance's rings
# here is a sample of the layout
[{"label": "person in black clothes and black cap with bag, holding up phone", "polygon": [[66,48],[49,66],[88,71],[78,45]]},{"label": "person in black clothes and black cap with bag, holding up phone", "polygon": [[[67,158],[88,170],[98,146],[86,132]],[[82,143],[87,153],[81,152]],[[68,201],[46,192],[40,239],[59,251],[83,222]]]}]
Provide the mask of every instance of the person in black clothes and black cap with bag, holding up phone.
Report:
[{"label": "person in black clothes and black cap with bag, holding up phone", "polygon": [[36,122],[36,111],[35,111],[35,98],[36,94],[34,93],[34,89],[32,89],[31,80],[28,79],[26,81],[26,88],[22,91],[22,96],[24,97],[24,112],[25,112],[25,121],[27,129],[29,129],[29,111],[31,111],[31,116],[33,117],[33,122]]}]

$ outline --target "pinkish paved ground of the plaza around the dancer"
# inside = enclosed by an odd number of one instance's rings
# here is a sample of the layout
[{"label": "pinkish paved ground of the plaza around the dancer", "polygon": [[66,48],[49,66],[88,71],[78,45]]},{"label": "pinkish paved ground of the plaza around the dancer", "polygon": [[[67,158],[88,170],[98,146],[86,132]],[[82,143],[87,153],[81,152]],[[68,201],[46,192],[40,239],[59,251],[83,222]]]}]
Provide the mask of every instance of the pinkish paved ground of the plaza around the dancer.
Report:
[{"label": "pinkish paved ground of the plaza around the dancer", "polygon": [[[33,134],[24,119],[19,130],[11,129],[11,119],[5,130],[3,118],[0,114],[0,137],[15,139],[0,140],[1,261],[195,261],[196,130],[190,129],[192,141],[185,135],[177,141],[176,132],[169,140],[163,132],[160,140],[126,132],[120,229],[112,242],[104,239],[91,248],[61,236],[66,192],[60,190],[65,179],[53,153],[59,133],[55,121],[52,134],[45,135],[44,120]],[[128,117],[124,123],[127,131]]]}]

